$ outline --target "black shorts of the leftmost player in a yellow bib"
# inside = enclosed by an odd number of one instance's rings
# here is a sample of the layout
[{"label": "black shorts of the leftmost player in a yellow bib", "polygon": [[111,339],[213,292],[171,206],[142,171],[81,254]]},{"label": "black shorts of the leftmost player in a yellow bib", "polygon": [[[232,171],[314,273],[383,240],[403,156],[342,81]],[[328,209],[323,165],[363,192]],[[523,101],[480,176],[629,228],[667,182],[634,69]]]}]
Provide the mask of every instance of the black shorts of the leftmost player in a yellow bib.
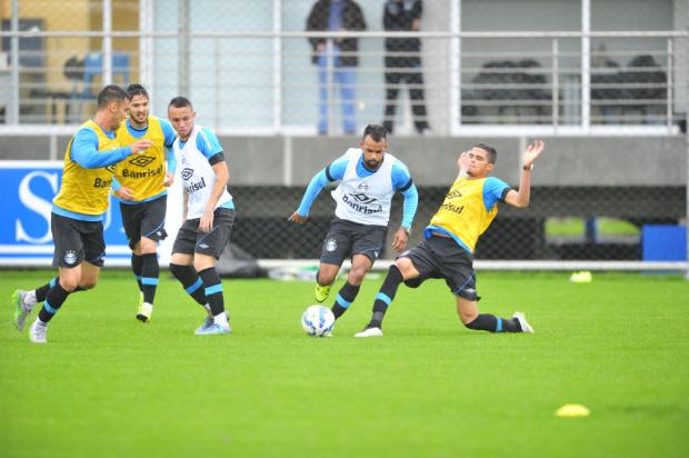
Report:
[{"label": "black shorts of the leftmost player in a yellow bib", "polygon": [[51,213],[50,230],[56,246],[54,267],[77,267],[84,260],[103,267],[106,239],[102,221],[81,221]]}]

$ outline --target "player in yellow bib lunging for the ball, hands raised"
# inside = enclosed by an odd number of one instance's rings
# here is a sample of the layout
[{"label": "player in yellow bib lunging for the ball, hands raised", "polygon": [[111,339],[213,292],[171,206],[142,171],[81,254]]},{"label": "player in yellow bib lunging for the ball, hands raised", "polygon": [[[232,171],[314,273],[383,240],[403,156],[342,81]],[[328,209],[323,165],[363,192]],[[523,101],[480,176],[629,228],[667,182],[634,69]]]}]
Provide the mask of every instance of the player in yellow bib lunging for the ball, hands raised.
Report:
[{"label": "player in yellow bib lunging for the ball, hands raised", "polygon": [[529,206],[531,170],[543,148],[542,141],[535,141],[523,153],[519,191],[489,177],[498,156],[493,147],[478,143],[460,155],[459,176],[423,231],[423,240],[390,266],[376,296],[371,320],[356,337],[382,336],[382,319],[399,285],[403,281],[410,288],[418,288],[428,278],[445,279],[456,297],[459,319],[467,328],[489,332],[533,332],[523,313],[516,312],[510,319],[479,313],[472,258],[478,238],[498,213],[498,202],[516,208]]}]

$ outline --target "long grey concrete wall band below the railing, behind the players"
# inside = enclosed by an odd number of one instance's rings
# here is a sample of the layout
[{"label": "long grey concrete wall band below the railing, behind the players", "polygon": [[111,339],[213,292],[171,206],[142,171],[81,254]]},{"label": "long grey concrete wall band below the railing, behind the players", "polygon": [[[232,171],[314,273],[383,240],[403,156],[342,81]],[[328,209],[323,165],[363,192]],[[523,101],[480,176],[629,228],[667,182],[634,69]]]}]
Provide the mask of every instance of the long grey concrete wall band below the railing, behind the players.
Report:
[{"label": "long grey concrete wall band below the railing, behind the players", "polygon": [[[69,137],[57,137],[56,158],[62,158]],[[420,138],[389,141],[420,186],[446,186],[457,176],[460,151],[478,141],[498,149],[495,176],[511,185],[519,181],[518,137]],[[686,137],[552,137],[533,172],[535,186],[686,186]],[[347,148],[351,137],[221,137],[230,163],[232,185],[306,186],[311,177]],[[0,141],[2,159],[51,159],[48,136],[8,136]]]}]

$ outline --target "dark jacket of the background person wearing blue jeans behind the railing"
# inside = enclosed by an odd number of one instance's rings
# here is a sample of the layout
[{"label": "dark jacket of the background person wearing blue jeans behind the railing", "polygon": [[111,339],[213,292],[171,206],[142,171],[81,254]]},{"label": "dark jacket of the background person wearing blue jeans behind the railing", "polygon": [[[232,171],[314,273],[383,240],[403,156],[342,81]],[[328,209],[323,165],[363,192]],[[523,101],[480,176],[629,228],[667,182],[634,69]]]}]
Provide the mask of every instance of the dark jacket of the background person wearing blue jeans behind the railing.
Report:
[{"label": "dark jacket of the background person wearing blue jeans behind the railing", "polygon": [[[307,20],[307,31],[328,30],[328,19],[330,17],[330,1],[331,0],[318,0]],[[342,8],[342,28],[347,31],[366,30],[366,21],[363,20],[363,13],[361,9],[353,0],[342,0],[344,7]],[[318,63],[318,54],[316,48],[319,43],[324,43],[326,38],[309,38],[313,53],[311,54],[311,61]],[[343,56],[339,58],[340,67],[357,67],[359,58],[356,52],[359,50],[359,39],[346,38],[338,43],[340,51]]]}]

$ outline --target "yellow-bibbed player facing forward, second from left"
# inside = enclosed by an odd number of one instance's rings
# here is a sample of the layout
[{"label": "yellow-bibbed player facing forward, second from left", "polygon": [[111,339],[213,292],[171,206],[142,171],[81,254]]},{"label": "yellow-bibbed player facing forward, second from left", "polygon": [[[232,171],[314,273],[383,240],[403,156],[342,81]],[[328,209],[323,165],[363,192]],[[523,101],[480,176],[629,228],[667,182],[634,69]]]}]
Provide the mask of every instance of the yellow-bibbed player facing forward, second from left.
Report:
[{"label": "yellow-bibbed player facing forward, second from left", "polygon": [[[122,226],[131,248],[131,269],[139,285],[137,318],[151,319],[160,266],[158,241],[168,235],[164,229],[168,187],[174,180],[172,152],[174,130],[170,122],[150,113],[149,94],[141,84],[127,88],[129,118],[117,131],[118,142],[132,145],[139,139],[151,140],[146,155],[118,162],[114,167],[113,195],[120,199]],[[167,167],[166,167],[167,160]]]}]

